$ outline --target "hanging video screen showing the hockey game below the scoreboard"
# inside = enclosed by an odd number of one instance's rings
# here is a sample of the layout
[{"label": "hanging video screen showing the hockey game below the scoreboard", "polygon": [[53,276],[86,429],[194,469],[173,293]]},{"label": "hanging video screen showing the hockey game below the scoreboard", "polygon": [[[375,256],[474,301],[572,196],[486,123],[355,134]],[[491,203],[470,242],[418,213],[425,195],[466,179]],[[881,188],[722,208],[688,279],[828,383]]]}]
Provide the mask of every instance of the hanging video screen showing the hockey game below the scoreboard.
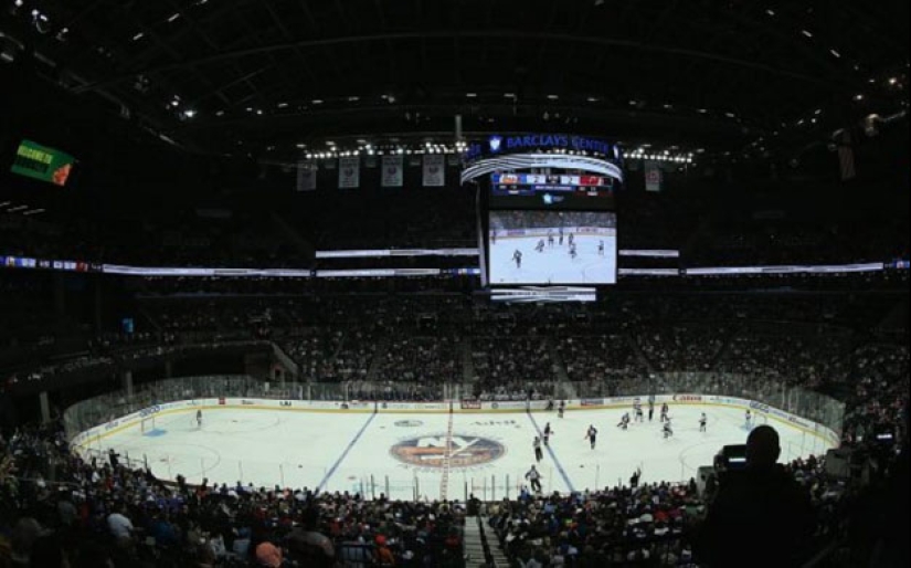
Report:
[{"label": "hanging video screen showing the hockey game below the scoreboard", "polygon": [[616,284],[617,217],[490,211],[490,284]]}]

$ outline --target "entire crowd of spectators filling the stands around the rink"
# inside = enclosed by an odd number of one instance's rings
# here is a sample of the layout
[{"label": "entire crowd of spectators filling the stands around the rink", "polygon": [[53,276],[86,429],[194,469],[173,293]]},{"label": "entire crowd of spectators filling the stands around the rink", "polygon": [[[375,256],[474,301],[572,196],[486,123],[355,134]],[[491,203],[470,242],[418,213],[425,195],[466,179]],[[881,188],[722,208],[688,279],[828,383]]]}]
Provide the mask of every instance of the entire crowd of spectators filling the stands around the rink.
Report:
[{"label": "entire crowd of spectators filling the stands around the rink", "polygon": [[[45,370],[63,377],[74,367],[192,349],[192,339],[211,332],[255,340],[266,329],[306,378],[345,385],[352,400],[438,399],[441,385],[462,382],[466,371],[476,377],[473,395],[485,400],[551,398],[557,392],[548,389],[563,372],[584,392],[590,383],[655,385],[646,380],[654,374],[728,371],[840,398],[847,404],[845,442],[864,448],[883,429],[903,441],[911,358],[907,317],[896,317],[903,302],[888,295],[635,294],[592,306],[518,309],[478,308],[459,295],[155,299],[144,304],[145,312],[165,332],[102,336],[94,341],[98,353]],[[187,329],[174,322],[187,322]],[[883,330],[889,323],[897,328]],[[60,550],[74,567],[105,566],[108,557],[115,566],[181,566],[179,558],[189,557],[199,566],[243,566],[257,561],[261,545],[269,543],[263,557],[282,554],[290,566],[301,555],[295,535],[307,530],[329,538],[339,556],[388,550],[400,566],[462,561],[464,511],[454,504],[174,486],[123,464],[81,463],[56,431],[20,430],[3,441],[0,453],[2,520],[17,558],[31,543],[39,557]],[[888,470],[883,462],[894,457],[876,455],[878,470]],[[811,495],[819,520],[816,536],[844,530],[839,519],[854,496],[825,461],[798,460],[786,471]],[[688,566],[696,561],[692,522],[707,506],[709,498],[691,483],[631,481],[570,496],[525,493],[488,505],[488,513],[522,566]],[[134,528],[125,534],[127,523]]]}]

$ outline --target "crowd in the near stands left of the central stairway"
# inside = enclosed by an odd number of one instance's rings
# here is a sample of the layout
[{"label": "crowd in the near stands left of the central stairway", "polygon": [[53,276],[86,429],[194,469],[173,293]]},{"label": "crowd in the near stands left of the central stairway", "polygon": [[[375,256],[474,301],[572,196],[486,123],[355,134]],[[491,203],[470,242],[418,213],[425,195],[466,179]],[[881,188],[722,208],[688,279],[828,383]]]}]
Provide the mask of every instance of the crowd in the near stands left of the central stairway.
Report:
[{"label": "crowd in the near stands left of the central stairway", "polygon": [[0,439],[0,455],[4,567],[464,566],[458,502],[163,483],[76,457],[53,427]]}]

